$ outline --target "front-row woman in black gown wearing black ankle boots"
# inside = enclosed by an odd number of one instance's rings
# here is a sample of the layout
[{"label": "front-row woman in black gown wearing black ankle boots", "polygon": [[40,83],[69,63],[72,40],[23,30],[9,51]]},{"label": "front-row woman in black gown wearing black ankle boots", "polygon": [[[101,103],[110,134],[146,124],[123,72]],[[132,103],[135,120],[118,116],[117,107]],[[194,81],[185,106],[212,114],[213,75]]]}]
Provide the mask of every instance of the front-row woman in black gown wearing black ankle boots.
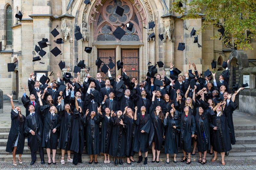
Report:
[{"label": "front-row woman in black gown wearing black ankle boots", "polygon": [[[135,107],[135,111],[136,111]],[[135,112],[134,114],[134,121],[136,123],[136,129],[135,129],[135,136],[133,141],[133,151],[139,152],[139,160],[137,163],[141,163],[142,161],[142,153],[145,153],[144,157],[144,165],[147,164],[147,156],[149,151],[149,145],[151,142],[149,142],[149,134],[151,129],[151,116],[146,113],[146,107],[142,106],[140,109],[140,113],[137,114]],[[137,116],[138,115],[138,116]]]}]

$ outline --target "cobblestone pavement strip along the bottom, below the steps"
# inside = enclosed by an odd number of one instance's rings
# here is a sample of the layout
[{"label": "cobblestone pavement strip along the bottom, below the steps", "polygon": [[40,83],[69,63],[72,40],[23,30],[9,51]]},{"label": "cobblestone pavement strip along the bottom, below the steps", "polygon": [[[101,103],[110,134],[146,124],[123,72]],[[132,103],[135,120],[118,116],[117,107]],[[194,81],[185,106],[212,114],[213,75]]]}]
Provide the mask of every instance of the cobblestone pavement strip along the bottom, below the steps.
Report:
[{"label": "cobblestone pavement strip along the bottom, below the steps", "polygon": [[29,169],[49,169],[49,170],[61,170],[61,169],[68,169],[68,170],[168,170],[168,169],[256,169],[256,159],[246,159],[246,160],[226,160],[226,165],[222,166],[220,164],[220,160],[215,162],[211,162],[208,160],[205,165],[201,165],[197,161],[192,161],[190,165],[186,165],[183,162],[172,163],[170,160],[170,164],[166,164],[165,162],[161,161],[160,163],[149,163],[147,165],[143,165],[143,162],[140,164],[133,163],[132,165],[128,165],[126,161],[123,161],[123,166],[118,165],[115,166],[113,161],[110,164],[104,164],[103,162],[99,162],[98,164],[91,164],[88,165],[87,162],[78,163],[78,165],[73,165],[72,163],[68,162],[65,165],[61,165],[60,162],[57,162],[56,165],[48,165],[45,162],[45,165],[41,165],[40,162],[36,162],[33,166],[30,166],[30,162],[23,162],[22,165],[12,166],[12,162],[0,162],[1,169],[12,169],[12,168],[19,168],[24,170]]}]

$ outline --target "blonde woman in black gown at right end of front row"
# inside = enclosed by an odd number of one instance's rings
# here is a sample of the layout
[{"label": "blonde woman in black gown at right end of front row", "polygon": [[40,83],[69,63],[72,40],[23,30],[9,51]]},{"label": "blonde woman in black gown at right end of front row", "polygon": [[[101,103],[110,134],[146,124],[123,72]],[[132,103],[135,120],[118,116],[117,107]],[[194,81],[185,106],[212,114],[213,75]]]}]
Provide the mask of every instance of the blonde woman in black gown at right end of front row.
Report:
[{"label": "blonde woman in black gown at right end of front row", "polygon": [[226,165],[224,161],[225,152],[228,152],[232,149],[227,125],[227,119],[229,117],[227,114],[231,113],[226,111],[227,108],[225,105],[226,101],[222,101],[213,108],[215,115],[213,115],[212,122],[210,123],[210,128],[213,129],[214,140],[214,143],[212,143],[214,157],[211,159],[211,161],[214,162],[217,159],[217,153],[219,152],[221,155],[222,165]]}]

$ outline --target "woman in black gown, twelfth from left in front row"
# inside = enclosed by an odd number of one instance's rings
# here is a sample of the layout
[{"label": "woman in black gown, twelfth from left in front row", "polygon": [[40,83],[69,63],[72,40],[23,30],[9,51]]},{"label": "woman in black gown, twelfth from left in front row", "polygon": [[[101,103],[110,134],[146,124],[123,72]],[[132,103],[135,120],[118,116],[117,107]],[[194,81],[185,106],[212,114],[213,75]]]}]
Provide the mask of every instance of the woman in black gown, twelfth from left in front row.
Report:
[{"label": "woman in black gown, twelfth from left in front row", "polygon": [[[164,143],[164,153],[166,154],[166,163],[169,164],[169,154],[173,154],[173,161],[177,163],[176,154],[178,154],[179,146],[179,132],[180,125],[178,118],[178,112],[174,112],[174,104],[171,105],[172,109],[170,113],[167,112],[163,125],[165,127],[165,143]],[[173,109],[174,108],[174,109]],[[176,116],[174,116],[176,114]]]}]

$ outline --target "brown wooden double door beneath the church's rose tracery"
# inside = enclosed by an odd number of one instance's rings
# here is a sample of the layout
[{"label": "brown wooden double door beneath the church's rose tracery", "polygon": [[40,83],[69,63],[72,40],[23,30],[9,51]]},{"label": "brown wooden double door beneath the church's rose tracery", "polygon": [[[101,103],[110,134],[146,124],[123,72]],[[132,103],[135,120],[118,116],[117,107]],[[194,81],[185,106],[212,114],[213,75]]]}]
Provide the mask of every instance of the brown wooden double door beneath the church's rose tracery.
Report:
[{"label": "brown wooden double door beneath the church's rose tracery", "polygon": [[[139,78],[139,49],[127,49],[122,48],[121,49],[121,57],[120,59],[116,58],[116,49],[98,49],[98,58],[101,59],[106,65],[110,62],[110,59],[113,61],[113,63],[116,65],[116,62],[120,60],[123,62],[123,67],[126,69],[126,74],[129,78],[136,77]],[[103,64],[101,64],[101,67]],[[122,69],[120,69],[118,72],[117,66],[115,66],[113,69],[111,69],[111,76],[113,78],[116,78],[116,74],[121,74]],[[101,72],[101,69],[98,69],[98,72]],[[101,72],[102,78],[105,80],[108,77],[108,74],[104,74]]]}]

